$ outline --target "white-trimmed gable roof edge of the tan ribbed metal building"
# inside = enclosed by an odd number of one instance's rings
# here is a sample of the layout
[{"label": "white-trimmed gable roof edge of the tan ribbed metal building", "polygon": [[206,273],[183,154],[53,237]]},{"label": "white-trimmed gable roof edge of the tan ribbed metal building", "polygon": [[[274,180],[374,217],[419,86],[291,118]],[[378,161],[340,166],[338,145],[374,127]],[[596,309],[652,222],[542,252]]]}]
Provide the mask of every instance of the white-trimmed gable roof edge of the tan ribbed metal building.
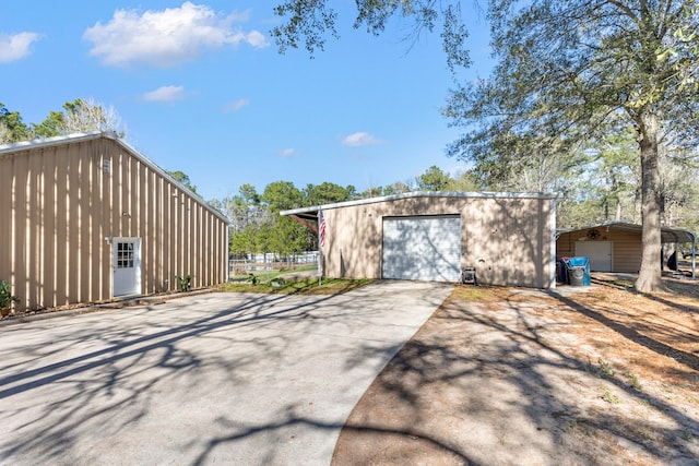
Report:
[{"label": "white-trimmed gable roof edge of the tan ribbed metal building", "polygon": [[204,201],[202,196],[200,196],[196,192],[192,192],[190,189],[188,189],[182,183],[177,181],[167,171],[158,167],[157,164],[155,164],[153,160],[147,158],[145,155],[141,154],[139,151],[137,151],[133,146],[131,146],[123,140],[121,140],[117,135],[117,133],[115,133],[114,131],[105,131],[105,132],[94,131],[88,133],[74,133],[74,134],[68,134],[63,136],[36,139],[32,141],[21,141],[12,144],[0,144],[0,157],[8,154],[14,154],[20,151],[31,151],[31,150],[43,148],[43,147],[55,147],[59,145],[75,144],[84,141],[94,141],[98,139],[106,139],[106,140],[112,141],[114,143],[119,145],[121,148],[127,151],[129,154],[131,154],[131,156],[138,158],[149,168],[153,169],[153,171],[157,172],[163,178],[165,178],[166,180],[175,184],[183,193],[186,193],[187,195],[191,196],[194,201],[202,204],[204,208],[206,208],[209,212],[211,212],[212,214],[214,214],[215,216],[224,220],[226,224],[230,224],[230,220],[228,220],[228,218],[224,214],[222,214],[217,208],[214,208],[211,205],[209,205],[209,203]]}]

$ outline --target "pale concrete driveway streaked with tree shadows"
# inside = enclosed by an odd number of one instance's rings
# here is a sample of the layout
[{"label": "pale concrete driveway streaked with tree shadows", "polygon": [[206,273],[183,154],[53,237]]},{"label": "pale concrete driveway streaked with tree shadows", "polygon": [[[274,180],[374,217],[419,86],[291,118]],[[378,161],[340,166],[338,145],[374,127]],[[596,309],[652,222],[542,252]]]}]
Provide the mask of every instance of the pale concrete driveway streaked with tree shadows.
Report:
[{"label": "pale concrete driveway streaked with tree shadows", "polygon": [[0,327],[0,464],[330,464],[451,289],[209,294]]}]

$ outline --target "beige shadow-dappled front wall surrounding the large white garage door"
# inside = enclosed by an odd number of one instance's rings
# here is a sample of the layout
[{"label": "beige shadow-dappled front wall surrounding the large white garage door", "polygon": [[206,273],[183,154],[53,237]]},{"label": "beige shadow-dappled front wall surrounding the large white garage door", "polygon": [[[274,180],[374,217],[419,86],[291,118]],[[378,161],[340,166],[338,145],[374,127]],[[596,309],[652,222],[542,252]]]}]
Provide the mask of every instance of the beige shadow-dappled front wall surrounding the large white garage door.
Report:
[{"label": "beige shadow-dappled front wall surrounding the large white garage door", "polygon": [[413,196],[323,210],[325,275],[381,278],[384,216],[461,216],[461,266],[483,284],[547,288],[553,277],[552,200],[506,196]]}]

